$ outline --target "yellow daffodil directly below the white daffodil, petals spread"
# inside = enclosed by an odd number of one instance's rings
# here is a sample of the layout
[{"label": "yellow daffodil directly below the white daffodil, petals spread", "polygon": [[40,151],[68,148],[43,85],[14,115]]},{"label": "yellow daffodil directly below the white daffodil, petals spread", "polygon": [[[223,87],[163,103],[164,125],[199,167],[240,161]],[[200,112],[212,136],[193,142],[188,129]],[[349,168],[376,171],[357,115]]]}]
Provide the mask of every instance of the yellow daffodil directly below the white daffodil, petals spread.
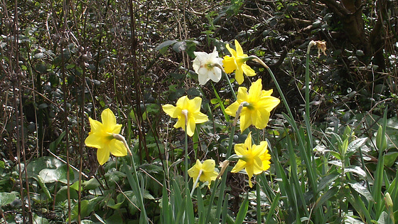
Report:
[{"label": "yellow daffodil directly below the white daffodil, petals spread", "polygon": [[[175,128],[182,127],[192,137],[195,132],[195,125],[208,121],[208,116],[200,112],[201,104],[202,98],[200,97],[189,100],[187,96],[183,96],[177,100],[176,107],[173,105],[162,105],[162,108],[170,117],[178,118],[178,122],[174,124]],[[185,120],[185,117],[188,119]],[[187,130],[185,130],[185,124]]]}]

